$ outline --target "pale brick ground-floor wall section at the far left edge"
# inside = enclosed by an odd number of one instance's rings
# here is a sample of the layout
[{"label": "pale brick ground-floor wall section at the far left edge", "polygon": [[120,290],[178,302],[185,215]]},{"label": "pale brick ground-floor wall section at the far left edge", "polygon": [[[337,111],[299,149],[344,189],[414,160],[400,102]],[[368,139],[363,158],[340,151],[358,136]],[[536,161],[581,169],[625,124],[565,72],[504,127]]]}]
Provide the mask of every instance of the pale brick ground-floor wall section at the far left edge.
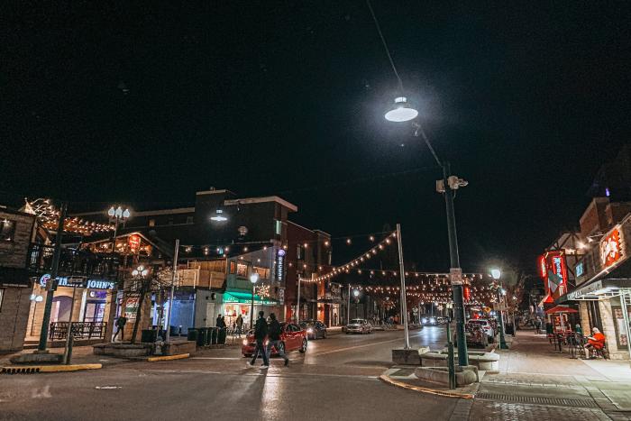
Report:
[{"label": "pale brick ground-floor wall section at the far left edge", "polygon": [[29,317],[30,288],[4,288],[0,307],[0,353],[21,351]]}]

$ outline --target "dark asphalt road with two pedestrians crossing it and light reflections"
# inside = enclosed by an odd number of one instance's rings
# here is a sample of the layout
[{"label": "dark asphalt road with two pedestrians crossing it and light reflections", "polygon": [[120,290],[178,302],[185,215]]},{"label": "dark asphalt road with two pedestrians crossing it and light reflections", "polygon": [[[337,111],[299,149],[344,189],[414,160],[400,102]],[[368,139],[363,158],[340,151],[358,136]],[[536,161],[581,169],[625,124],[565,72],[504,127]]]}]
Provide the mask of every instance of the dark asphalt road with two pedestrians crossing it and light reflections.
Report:
[{"label": "dark asphalt road with two pedestrians crossing it and light reflections", "polygon": [[[444,329],[411,332],[442,347]],[[378,376],[403,332],[332,335],[283,366],[247,368],[237,348],[174,362],[120,362],[99,371],[0,376],[0,419],[449,419],[456,400],[398,389]]]}]

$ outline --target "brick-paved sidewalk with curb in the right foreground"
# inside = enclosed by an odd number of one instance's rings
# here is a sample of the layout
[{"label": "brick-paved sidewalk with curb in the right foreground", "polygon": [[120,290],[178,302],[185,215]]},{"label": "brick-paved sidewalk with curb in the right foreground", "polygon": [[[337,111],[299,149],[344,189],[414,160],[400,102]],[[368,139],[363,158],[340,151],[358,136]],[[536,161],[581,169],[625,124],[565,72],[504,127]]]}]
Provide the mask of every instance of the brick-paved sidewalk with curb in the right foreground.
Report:
[{"label": "brick-paved sidewalk with curb in the right foreground", "polygon": [[[544,334],[517,331],[500,355],[499,372],[480,371],[480,383],[454,390],[465,397],[453,420],[631,419],[631,368],[627,361],[578,360],[554,352]],[[393,367],[389,376],[410,386],[444,391],[410,376],[409,367]]]}]

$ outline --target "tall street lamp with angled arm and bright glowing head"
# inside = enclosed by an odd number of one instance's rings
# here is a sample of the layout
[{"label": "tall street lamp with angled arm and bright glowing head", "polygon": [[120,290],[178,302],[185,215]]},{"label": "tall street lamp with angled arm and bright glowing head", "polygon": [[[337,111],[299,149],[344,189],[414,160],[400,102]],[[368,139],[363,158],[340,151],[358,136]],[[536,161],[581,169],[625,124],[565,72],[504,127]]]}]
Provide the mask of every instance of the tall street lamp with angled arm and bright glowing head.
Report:
[{"label": "tall street lamp with angled arm and bright glowing head", "polygon": [[[404,123],[416,118],[418,112],[413,105],[407,102],[405,96],[395,99],[394,105],[385,114],[386,120],[395,123]],[[425,135],[423,128],[418,123],[413,123],[416,127],[414,135],[423,137],[425,144],[432,152],[434,160],[443,169],[443,179],[436,182],[436,190],[444,194],[445,211],[447,214],[447,234],[449,238],[449,260],[450,260],[450,280],[453,293],[453,313],[456,319],[456,334],[458,337],[458,363],[461,366],[469,365],[467,354],[467,342],[464,334],[464,297],[462,290],[462,269],[460,268],[460,256],[458,253],[458,237],[456,235],[456,217],[453,210],[453,195],[455,190],[466,186],[468,183],[462,178],[452,175],[451,165],[447,161],[438,159],[432,143]]]}]

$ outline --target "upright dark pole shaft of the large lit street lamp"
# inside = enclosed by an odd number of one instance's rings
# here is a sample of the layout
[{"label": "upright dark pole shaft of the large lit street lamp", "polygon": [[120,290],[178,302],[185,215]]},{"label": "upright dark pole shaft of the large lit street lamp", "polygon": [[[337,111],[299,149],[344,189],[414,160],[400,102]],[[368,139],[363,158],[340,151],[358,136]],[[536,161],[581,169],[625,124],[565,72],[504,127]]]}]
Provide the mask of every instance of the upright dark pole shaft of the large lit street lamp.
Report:
[{"label": "upright dark pole shaft of the large lit street lamp", "polygon": [[453,191],[449,187],[451,166],[449,162],[443,164],[444,203],[447,212],[447,233],[449,234],[449,257],[451,263],[450,278],[453,293],[453,314],[456,319],[456,335],[458,338],[458,363],[469,365],[467,354],[467,340],[464,334],[464,297],[462,294],[462,269],[458,255],[458,236],[456,235],[456,216],[453,211]]}]

